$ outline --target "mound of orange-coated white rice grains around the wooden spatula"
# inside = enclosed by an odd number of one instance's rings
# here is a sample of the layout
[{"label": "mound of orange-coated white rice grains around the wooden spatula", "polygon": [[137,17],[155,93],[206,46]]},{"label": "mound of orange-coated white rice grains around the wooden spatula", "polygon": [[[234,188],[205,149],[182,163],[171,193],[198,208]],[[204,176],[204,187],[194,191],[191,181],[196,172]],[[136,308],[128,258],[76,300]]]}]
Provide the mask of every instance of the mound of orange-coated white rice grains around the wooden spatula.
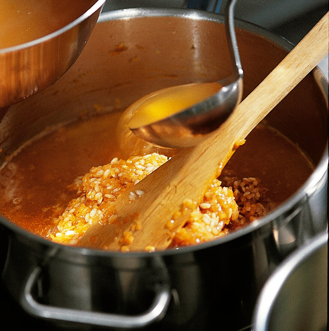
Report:
[{"label": "mound of orange-coated white rice grains around the wooden spatula", "polygon": [[[166,156],[153,153],[128,160],[114,158],[105,166],[92,167],[71,185],[79,197],[70,201],[58,217],[55,230],[50,231],[47,237],[58,243],[76,245],[94,222],[115,222],[111,203],[128,190],[131,190],[131,200],[142,195],[143,192],[134,191],[133,186],[167,160]],[[199,205],[189,202],[192,212],[184,227],[174,234],[171,247],[222,237],[232,229],[264,215],[270,207],[263,199],[266,191],[253,177],[238,179],[226,176],[223,183],[214,180]],[[124,235],[120,243],[122,250],[127,251],[133,238],[127,233]]]}]

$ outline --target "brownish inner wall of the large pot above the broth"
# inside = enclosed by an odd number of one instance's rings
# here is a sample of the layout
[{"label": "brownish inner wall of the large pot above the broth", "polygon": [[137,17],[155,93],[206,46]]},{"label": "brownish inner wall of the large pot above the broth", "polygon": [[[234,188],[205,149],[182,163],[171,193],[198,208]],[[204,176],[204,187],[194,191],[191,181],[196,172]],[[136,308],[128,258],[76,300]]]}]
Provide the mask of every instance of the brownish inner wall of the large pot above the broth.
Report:
[{"label": "brownish inner wall of the large pot above the broth", "polygon": [[[157,15],[118,18],[123,12],[118,13],[101,17],[81,56],[55,84],[11,106],[3,115],[1,163],[25,142],[60,123],[123,111],[160,88],[211,82],[230,74],[221,17],[166,16],[167,12],[159,16],[158,11],[150,11]],[[291,45],[284,40],[279,45],[279,38],[243,22],[236,32],[245,97]],[[265,122],[298,145],[316,167],[326,149],[326,118],[326,99],[309,74]]]}]

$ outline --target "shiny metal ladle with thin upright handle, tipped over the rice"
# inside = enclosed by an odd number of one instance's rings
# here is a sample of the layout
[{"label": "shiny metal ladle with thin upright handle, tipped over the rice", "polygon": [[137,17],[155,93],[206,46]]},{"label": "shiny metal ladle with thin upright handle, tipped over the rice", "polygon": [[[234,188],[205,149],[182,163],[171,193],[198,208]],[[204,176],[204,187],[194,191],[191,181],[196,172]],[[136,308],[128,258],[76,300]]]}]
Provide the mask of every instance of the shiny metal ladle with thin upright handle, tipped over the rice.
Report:
[{"label": "shiny metal ladle with thin upright handle, tipped over the rice", "polygon": [[[236,0],[227,4],[225,15],[226,38],[232,62],[232,74],[218,81],[222,88],[211,97],[172,116],[141,127],[130,127],[140,138],[159,146],[169,148],[190,147],[218,129],[240,103],[243,89],[243,71],[241,68],[238,45],[234,31],[234,6]],[[217,61],[223,61],[219,58]],[[162,93],[161,91],[156,92]],[[164,90],[164,95],[166,95]],[[141,107],[138,101],[129,107],[134,114]]]}]

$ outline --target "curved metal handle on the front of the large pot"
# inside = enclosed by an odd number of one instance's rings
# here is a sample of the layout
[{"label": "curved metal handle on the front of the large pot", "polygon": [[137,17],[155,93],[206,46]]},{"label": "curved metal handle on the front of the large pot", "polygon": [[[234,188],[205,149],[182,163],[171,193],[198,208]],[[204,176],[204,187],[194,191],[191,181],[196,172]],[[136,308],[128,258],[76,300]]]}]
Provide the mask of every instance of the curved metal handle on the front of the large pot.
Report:
[{"label": "curved metal handle on the front of the large pot", "polygon": [[136,328],[150,324],[165,315],[170,301],[170,286],[167,282],[157,285],[156,295],[151,307],[138,315],[102,313],[88,310],[69,309],[45,305],[37,302],[31,290],[41,273],[39,266],[34,267],[24,287],[20,303],[30,314],[44,319],[87,323],[97,326]]}]

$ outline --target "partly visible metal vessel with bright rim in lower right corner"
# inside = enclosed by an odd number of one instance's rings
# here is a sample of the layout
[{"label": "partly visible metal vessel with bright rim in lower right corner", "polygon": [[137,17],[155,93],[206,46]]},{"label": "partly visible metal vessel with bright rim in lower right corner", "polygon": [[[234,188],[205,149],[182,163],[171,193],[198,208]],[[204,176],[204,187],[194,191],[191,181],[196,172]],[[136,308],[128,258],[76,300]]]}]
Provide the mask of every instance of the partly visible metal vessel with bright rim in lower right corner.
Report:
[{"label": "partly visible metal vessel with bright rim in lower right corner", "polygon": [[253,315],[255,331],[327,330],[328,233],[279,265],[263,287]]}]

